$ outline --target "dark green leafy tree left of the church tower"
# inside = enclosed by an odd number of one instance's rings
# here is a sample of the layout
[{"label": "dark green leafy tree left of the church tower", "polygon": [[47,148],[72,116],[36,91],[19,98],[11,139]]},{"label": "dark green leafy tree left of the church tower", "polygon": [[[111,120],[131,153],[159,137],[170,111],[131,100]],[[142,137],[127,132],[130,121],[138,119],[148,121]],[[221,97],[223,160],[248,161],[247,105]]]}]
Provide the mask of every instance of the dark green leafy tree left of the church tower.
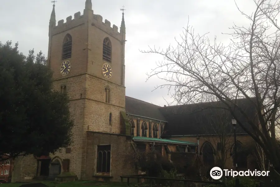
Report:
[{"label": "dark green leafy tree left of the church tower", "polygon": [[[41,156],[71,143],[68,97],[52,91],[46,58],[0,42],[0,155]],[[3,157],[6,158],[6,157]],[[0,158],[1,159],[1,158]]]}]

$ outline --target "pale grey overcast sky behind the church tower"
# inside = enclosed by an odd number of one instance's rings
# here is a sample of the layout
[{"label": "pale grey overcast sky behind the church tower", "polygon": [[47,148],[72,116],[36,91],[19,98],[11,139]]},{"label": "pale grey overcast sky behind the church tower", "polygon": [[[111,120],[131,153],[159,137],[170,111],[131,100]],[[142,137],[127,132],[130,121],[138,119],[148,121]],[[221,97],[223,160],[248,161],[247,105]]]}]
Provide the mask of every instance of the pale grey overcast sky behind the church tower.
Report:
[{"label": "pale grey overcast sky behind the church tower", "polygon": [[[55,4],[56,22],[74,13],[83,12],[86,0],[58,0]],[[252,13],[255,5],[252,0],[236,0],[246,13]],[[233,0],[92,0],[92,9],[105,19],[120,27],[122,14],[119,10],[125,6],[125,86],[126,95],[163,106],[170,95],[166,89],[152,92],[156,85],[164,84],[154,77],[146,82],[146,73],[156,67],[160,56],[143,54],[148,46],[166,48],[174,44],[174,37],[182,33],[189,23],[199,34],[208,34],[223,43],[229,42],[228,35],[233,22],[249,26],[246,18],[238,12]],[[47,56],[48,27],[52,11],[51,0],[13,0],[2,1],[0,7],[0,41],[19,42],[19,50],[25,55],[34,48]]]}]

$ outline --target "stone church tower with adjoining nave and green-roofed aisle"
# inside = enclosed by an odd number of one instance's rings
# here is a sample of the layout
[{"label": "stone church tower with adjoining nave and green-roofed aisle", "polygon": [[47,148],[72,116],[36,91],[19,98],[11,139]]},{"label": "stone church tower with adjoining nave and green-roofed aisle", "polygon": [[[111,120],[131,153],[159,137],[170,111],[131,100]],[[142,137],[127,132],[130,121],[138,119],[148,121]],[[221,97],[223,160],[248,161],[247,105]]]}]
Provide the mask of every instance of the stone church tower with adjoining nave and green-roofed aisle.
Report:
[{"label": "stone church tower with adjoining nave and green-roofed aisle", "polygon": [[125,96],[124,13],[118,31],[93,13],[91,0],[86,0],[83,14],[57,24],[54,7],[47,64],[53,71],[53,89],[70,98],[73,143],[54,155],[17,158],[12,181],[54,178],[63,172],[82,180],[117,181],[121,175],[139,173],[129,161],[137,149],[154,147],[169,160],[172,155],[178,159],[175,152],[196,156],[196,139],[161,138],[169,121],[160,107]]}]

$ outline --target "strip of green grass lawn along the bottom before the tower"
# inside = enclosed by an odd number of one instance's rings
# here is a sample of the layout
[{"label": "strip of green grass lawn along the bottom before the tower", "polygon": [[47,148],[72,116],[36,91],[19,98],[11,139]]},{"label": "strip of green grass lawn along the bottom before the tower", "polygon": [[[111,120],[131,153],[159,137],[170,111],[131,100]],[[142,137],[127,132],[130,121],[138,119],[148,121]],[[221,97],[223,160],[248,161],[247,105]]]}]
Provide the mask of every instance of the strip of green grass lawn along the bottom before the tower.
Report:
[{"label": "strip of green grass lawn along the bottom before the tower", "polygon": [[[52,181],[38,181],[49,187],[124,187],[126,183],[118,182],[96,182],[96,181],[74,181],[74,182],[52,182]],[[19,187],[20,185],[28,183],[8,183],[0,184],[1,187]]]}]

